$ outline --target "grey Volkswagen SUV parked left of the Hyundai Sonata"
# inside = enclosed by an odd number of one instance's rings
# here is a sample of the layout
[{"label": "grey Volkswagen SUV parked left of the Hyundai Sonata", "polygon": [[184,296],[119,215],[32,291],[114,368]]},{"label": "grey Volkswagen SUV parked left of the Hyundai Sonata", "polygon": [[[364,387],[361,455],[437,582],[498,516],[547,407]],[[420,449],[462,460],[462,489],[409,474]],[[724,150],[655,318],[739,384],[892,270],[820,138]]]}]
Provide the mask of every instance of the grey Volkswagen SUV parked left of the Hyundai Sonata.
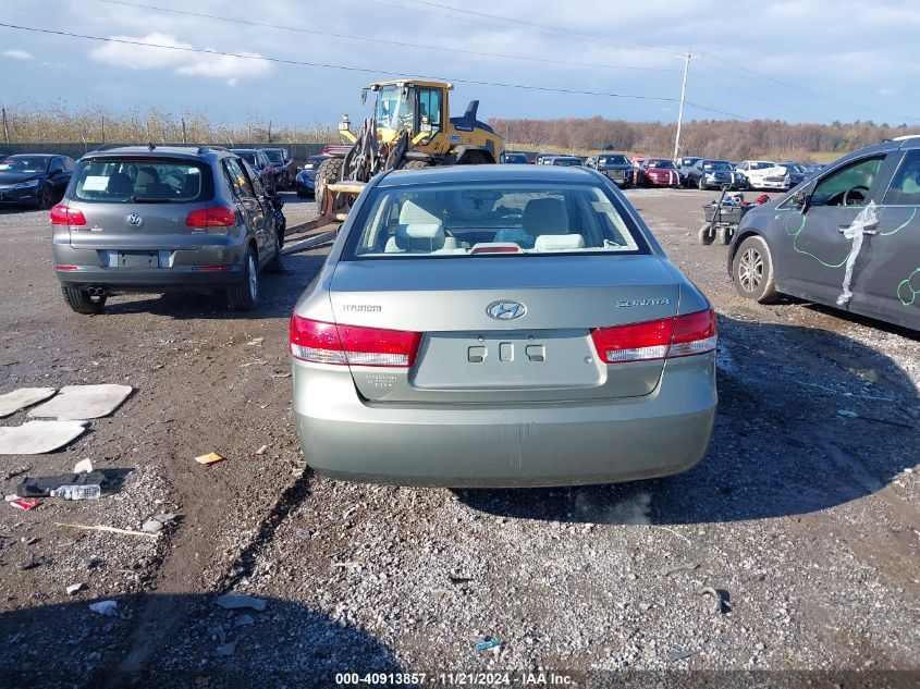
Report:
[{"label": "grey Volkswagen SUV parked left of the Hyundai Sonata", "polygon": [[254,309],[259,270],[281,269],[279,207],[222,148],[87,153],[51,209],[64,300],[99,313],[112,294],[225,291],[232,308]]}]

